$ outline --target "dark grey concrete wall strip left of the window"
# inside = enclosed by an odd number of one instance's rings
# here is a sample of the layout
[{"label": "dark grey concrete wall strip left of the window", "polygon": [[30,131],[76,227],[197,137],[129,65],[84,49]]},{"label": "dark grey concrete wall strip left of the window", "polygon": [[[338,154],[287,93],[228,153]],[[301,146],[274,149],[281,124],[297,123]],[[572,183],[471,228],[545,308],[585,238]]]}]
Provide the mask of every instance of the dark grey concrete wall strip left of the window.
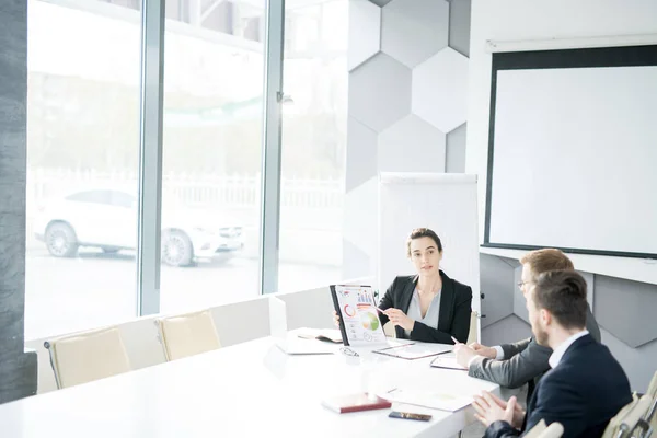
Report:
[{"label": "dark grey concrete wall strip left of the window", "polygon": [[0,403],[36,390],[24,351],[27,1],[0,3]]}]

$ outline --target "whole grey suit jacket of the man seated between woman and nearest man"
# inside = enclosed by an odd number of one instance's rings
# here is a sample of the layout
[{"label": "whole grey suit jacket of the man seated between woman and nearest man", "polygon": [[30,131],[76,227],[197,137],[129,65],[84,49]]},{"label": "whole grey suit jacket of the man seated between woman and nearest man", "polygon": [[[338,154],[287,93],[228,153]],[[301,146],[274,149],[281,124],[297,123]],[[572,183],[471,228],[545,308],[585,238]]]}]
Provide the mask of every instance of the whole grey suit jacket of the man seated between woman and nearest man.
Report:
[{"label": "whole grey suit jacket of the man seated between woman and nearest man", "polygon": [[[593,339],[600,342],[600,328],[589,307],[587,307],[586,330]],[[519,388],[529,382],[527,396],[531,397],[535,383],[550,369],[548,359],[552,355],[552,349],[537,344],[532,337],[515,344],[502,345],[502,349],[504,360],[477,356],[470,364],[468,374],[508,388]]]}]

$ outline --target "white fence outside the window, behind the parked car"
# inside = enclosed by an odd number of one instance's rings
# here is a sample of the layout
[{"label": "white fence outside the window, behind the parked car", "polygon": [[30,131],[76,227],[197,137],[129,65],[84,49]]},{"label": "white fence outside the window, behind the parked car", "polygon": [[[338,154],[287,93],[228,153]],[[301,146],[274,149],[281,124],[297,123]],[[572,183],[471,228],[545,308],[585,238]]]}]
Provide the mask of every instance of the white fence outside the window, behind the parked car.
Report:
[{"label": "white fence outside the window, behind the parked car", "polygon": [[[49,199],[89,188],[136,194],[135,172],[69,169],[27,170],[27,246],[42,249],[32,229],[36,210]],[[165,174],[163,198],[226,212],[245,228],[244,254],[257,257],[260,175]],[[344,184],[338,180],[287,178],[281,182],[280,257],[319,265],[342,264]],[[336,244],[337,243],[337,244]]]}]

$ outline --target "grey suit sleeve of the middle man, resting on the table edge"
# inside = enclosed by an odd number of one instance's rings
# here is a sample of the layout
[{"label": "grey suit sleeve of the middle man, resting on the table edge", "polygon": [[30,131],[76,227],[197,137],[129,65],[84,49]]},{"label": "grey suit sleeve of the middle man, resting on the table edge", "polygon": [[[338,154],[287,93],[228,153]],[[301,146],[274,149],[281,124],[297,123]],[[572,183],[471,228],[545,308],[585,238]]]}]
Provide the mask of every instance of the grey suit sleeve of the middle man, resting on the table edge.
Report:
[{"label": "grey suit sleeve of the middle man, resting on the table edge", "polygon": [[519,354],[507,360],[477,356],[470,364],[468,374],[502,387],[520,388],[550,369],[548,359],[551,354],[551,348],[543,347],[532,339]]}]

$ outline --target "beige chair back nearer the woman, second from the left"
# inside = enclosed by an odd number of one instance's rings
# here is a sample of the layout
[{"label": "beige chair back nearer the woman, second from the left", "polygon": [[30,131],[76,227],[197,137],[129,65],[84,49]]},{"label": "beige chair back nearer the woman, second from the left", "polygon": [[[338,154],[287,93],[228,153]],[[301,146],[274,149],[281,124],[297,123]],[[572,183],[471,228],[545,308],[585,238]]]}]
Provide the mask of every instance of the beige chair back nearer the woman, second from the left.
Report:
[{"label": "beige chair back nearer the woman, second from the left", "polygon": [[155,320],[166,360],[221,348],[209,310]]}]

